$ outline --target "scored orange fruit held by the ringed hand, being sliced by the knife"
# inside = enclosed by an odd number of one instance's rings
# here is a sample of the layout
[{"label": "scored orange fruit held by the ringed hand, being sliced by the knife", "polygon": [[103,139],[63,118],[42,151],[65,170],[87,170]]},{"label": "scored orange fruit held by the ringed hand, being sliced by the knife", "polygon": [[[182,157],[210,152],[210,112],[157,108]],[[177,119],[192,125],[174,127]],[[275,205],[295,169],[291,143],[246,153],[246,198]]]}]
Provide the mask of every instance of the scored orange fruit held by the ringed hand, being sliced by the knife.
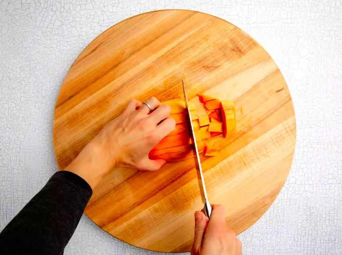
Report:
[{"label": "scored orange fruit held by the ringed hand, being sliced by the knife", "polygon": [[[165,138],[160,140],[157,145],[150,151],[150,159],[164,159],[167,162],[184,160],[192,157],[191,139],[189,136],[189,128],[185,111],[185,103],[183,99],[172,99],[162,102],[171,107],[170,117],[176,121],[175,129]],[[198,150],[203,152],[203,142],[198,121],[198,114],[195,105],[188,103],[191,110],[192,125],[195,132]]]}]

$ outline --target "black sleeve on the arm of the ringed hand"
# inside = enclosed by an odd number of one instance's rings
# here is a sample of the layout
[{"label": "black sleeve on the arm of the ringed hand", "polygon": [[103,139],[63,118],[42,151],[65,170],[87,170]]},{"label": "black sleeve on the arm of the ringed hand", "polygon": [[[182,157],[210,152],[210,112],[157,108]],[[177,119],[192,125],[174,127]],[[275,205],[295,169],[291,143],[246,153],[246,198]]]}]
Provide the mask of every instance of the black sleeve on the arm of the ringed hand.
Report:
[{"label": "black sleeve on the arm of the ringed hand", "polygon": [[1,255],[62,255],[91,194],[78,175],[55,173],[0,233]]}]

